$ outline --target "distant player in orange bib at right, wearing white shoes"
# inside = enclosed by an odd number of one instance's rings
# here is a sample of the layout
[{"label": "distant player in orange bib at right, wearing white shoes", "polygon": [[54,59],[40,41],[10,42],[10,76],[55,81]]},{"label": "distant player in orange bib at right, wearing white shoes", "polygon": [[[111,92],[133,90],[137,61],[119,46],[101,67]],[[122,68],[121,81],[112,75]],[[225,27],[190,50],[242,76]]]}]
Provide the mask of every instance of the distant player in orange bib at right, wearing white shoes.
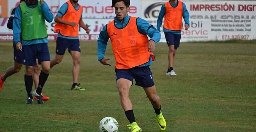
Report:
[{"label": "distant player in orange bib at right, wearing white shoes", "polygon": [[169,47],[168,53],[168,70],[167,76],[176,76],[173,69],[173,63],[175,60],[175,54],[177,49],[180,47],[181,30],[182,30],[182,17],[185,21],[185,30],[189,29],[189,12],[186,8],[185,3],[179,0],[169,0],[161,7],[158,19],[157,19],[157,30],[160,31],[162,26],[163,17],[164,20],[164,33],[167,45]]}]

